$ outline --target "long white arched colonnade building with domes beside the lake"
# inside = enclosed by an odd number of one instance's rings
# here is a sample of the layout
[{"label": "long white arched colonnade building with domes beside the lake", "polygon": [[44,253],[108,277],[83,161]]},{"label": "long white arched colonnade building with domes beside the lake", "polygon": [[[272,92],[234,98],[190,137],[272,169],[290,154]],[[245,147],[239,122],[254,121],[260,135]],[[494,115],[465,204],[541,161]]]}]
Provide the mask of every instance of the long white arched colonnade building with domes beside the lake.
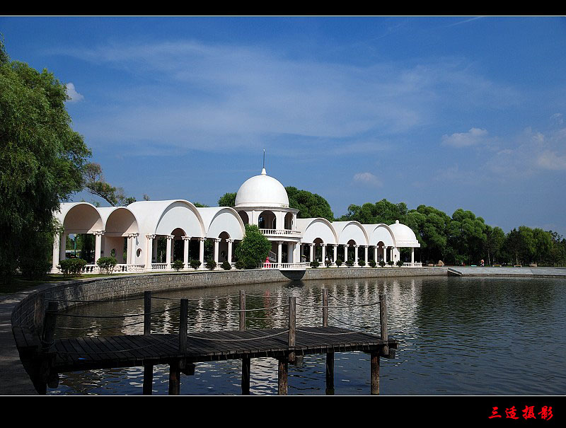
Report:
[{"label": "long white arched colonnade building with domes beside the lake", "polygon": [[[233,243],[241,241],[245,224],[257,224],[272,243],[272,267],[281,263],[337,259],[385,262],[399,260],[399,248],[420,244],[415,233],[398,221],[395,224],[359,224],[357,221],[297,219],[298,209],[289,208],[287,191],[270,177],[265,168],[241,185],[236,206],[197,208],[184,199],[140,201],[127,207],[96,208],[88,202],[61,204],[57,219],[64,233],[53,246],[52,272],[65,256],[69,233],[95,236],[95,260],[101,256],[117,258],[122,270],[170,270],[172,260],[183,260],[185,270],[190,248],[204,265],[204,241],[214,243],[216,263],[233,262]],[[125,257],[122,255],[127,240]],[[157,260],[158,240],[166,241],[166,257]],[[276,265],[277,263],[277,265]]]}]

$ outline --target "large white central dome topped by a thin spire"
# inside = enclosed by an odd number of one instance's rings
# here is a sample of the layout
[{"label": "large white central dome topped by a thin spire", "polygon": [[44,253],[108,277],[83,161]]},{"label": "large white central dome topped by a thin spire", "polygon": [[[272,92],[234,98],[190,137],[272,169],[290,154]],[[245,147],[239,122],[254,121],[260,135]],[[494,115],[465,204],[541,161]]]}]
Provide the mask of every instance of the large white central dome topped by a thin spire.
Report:
[{"label": "large white central dome topped by a thin spire", "polygon": [[236,194],[236,207],[289,208],[287,190],[262,169],[260,175],[248,178]]}]

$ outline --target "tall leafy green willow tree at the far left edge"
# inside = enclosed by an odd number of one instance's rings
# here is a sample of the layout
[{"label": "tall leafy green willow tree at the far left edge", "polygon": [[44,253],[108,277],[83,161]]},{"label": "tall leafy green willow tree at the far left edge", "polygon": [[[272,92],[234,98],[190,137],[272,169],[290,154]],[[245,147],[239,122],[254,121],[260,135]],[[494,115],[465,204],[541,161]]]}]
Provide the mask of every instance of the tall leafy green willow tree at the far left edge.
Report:
[{"label": "tall leafy green willow tree at the far left edge", "polygon": [[52,73],[11,61],[0,40],[0,279],[48,270],[53,212],[83,187],[91,151],[71,129],[67,88]]}]

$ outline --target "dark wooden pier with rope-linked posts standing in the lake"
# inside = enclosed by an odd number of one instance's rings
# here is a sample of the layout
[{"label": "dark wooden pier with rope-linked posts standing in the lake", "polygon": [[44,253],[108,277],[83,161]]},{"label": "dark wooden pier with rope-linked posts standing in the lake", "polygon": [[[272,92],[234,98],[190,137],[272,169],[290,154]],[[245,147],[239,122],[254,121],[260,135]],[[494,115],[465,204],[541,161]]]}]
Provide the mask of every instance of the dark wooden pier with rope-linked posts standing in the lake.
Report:
[{"label": "dark wooden pier with rope-linked posts standing in the lake", "polygon": [[[386,296],[379,295],[381,335],[328,326],[328,292],[323,290],[322,327],[296,326],[296,298],[289,297],[289,328],[246,330],[246,295],[240,294],[240,329],[187,332],[187,299],[180,299],[179,334],[151,334],[151,291],[144,295],[144,334],[108,337],[75,337],[54,340],[57,302],[50,302],[41,340],[29,332],[14,330],[22,359],[33,366],[31,377],[40,393],[57,386],[66,371],[144,366],[144,394],[151,394],[153,367],[168,364],[169,394],[180,393],[180,374],[194,374],[198,362],[242,360],[241,390],[250,393],[250,362],[270,357],[278,361],[279,395],[287,394],[289,364],[301,364],[308,354],[326,354],[326,393],[334,390],[335,352],[370,354],[370,393],[379,394],[379,359],[395,358],[398,342],[388,338]],[[249,310],[248,310],[249,311]],[[30,370],[28,369],[28,372]]]}]

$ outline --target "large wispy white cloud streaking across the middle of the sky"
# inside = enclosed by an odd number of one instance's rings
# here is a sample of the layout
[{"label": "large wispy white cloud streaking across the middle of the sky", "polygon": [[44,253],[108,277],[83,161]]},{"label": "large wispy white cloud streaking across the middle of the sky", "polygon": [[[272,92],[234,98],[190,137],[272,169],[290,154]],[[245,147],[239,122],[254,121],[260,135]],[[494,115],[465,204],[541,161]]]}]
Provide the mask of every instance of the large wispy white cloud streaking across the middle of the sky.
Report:
[{"label": "large wispy white cloud streaking across the middle of the sky", "polygon": [[[50,53],[109,65],[144,82],[108,88],[107,105],[115,108],[81,123],[101,144],[120,141],[124,150],[140,141],[186,149],[256,148],[273,134],[328,139],[335,144],[330,149],[354,141],[352,149],[363,150],[356,141],[364,136],[408,132],[433,123],[446,108],[458,112],[516,100],[511,88],[461,60],[345,65],[197,41]],[[466,103],[458,101],[464,98]]]}]

